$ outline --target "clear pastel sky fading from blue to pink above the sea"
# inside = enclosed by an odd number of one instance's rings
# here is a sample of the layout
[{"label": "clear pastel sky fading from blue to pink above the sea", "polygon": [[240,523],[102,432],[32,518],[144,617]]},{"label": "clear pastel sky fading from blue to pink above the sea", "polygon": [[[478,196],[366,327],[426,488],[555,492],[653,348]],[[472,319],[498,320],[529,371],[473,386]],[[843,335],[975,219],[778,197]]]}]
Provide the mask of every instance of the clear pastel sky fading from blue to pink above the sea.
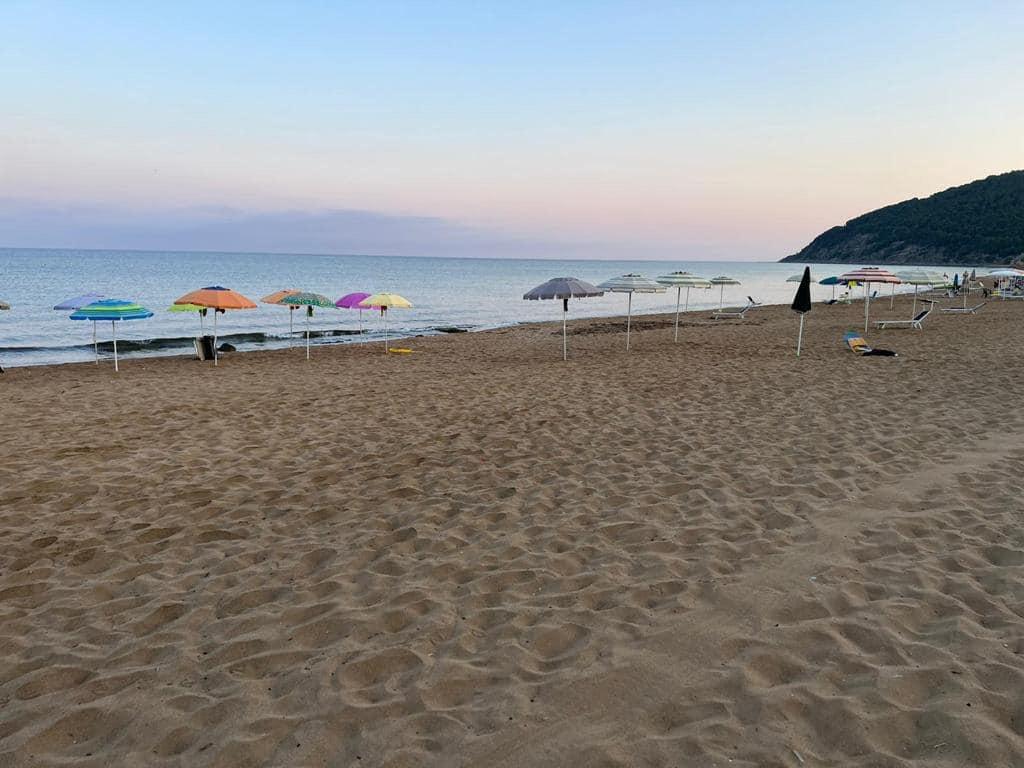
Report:
[{"label": "clear pastel sky fading from blue to pink above the sea", "polygon": [[0,246],[770,260],[1024,168],[1024,3],[0,3]]}]

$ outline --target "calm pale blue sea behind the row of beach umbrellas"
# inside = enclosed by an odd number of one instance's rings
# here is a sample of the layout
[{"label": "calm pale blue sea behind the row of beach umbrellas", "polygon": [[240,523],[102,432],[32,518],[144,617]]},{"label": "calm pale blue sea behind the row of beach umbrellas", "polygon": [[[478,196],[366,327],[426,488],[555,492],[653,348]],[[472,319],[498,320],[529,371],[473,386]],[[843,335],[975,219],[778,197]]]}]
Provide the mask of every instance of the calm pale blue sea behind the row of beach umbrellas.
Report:
[{"label": "calm pale blue sea behind the row of beach umbrellas", "polygon": [[[812,266],[815,280],[858,265]],[[332,299],[354,292],[391,291],[408,298],[411,309],[388,312],[389,335],[395,338],[473,332],[537,321],[559,322],[561,302],[524,301],[522,295],[550,278],[573,276],[595,285],[610,278],[639,273],[657,278],[686,270],[703,278],[728,275],[738,286],[693,290],[689,311],[706,312],[740,306],[748,297],[765,304],[792,302],[797,285],[786,279],[804,265],[771,261],[612,261],[553,259],[427,258],[398,256],[331,256],[182,251],[95,251],[0,248],[0,366],[80,362],[93,358],[92,324],[73,322],[69,311],[52,307],[71,297],[97,293],[131,299],[154,311],[148,319],[119,323],[118,352],[124,357],[193,354],[200,335],[198,313],[170,312],[183,294],[206,286],[224,286],[254,301],[274,291],[300,289]],[[683,292],[685,295],[685,291]],[[814,285],[812,298],[826,299],[833,289]],[[573,300],[570,317],[625,315],[627,297]],[[676,291],[637,294],[637,315],[674,311]],[[210,332],[211,317],[206,319]],[[287,307],[260,304],[251,310],[218,316],[218,343],[239,351],[274,349],[304,341],[306,316],[295,312],[289,332]],[[106,324],[100,324],[106,326]],[[380,341],[379,313],[352,309],[316,309],[309,321],[311,343],[357,344]],[[99,351],[113,354],[111,328],[97,328]]]}]

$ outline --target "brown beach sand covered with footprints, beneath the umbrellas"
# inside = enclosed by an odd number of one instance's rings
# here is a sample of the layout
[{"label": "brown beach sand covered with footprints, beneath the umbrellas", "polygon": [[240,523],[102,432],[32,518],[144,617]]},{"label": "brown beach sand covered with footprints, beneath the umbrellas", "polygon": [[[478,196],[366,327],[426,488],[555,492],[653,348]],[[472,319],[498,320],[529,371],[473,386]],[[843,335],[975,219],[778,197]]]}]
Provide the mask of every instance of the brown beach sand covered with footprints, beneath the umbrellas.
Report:
[{"label": "brown beach sand covered with footprints, beneath the umbrellas", "polygon": [[861,313],[9,371],[0,766],[1024,765],[1024,305]]}]

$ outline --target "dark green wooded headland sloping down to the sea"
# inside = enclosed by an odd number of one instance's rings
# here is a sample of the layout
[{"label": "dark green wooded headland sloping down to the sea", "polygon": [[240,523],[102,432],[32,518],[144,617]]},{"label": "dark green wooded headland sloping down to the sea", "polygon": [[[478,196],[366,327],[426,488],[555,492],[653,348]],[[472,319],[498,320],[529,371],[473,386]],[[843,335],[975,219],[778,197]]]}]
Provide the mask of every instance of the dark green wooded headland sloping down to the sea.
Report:
[{"label": "dark green wooded headland sloping down to the sea", "polygon": [[822,232],[782,261],[1009,264],[1024,259],[1024,171],[905,200]]}]

